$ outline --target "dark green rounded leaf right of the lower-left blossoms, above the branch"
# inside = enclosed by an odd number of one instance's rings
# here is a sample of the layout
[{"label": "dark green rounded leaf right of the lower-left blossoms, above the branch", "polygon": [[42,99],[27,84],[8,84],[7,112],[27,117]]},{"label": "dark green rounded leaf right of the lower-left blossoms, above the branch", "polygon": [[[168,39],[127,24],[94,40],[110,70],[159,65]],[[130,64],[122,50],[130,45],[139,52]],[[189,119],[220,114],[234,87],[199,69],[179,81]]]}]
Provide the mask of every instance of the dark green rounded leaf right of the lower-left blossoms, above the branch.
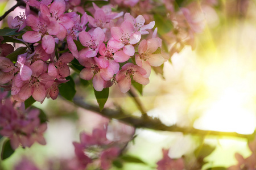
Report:
[{"label": "dark green rounded leaf right of the lower-left blossoms, above the branch", "polygon": [[72,101],[76,94],[75,82],[71,76],[67,76],[66,79],[69,81],[67,83],[60,84],[59,92],[65,99]]}]

